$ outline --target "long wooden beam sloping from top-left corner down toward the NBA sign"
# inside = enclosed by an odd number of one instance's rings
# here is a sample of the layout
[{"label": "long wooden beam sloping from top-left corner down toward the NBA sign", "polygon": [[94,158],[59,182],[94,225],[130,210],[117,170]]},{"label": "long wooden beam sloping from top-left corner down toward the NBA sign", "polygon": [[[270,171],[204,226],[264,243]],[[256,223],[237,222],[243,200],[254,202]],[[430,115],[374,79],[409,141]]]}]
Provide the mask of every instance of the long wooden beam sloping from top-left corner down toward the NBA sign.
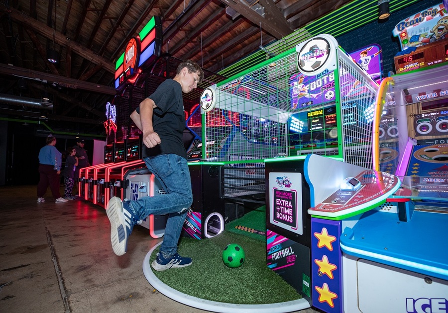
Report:
[{"label": "long wooden beam sloping from top-left corner down toward the NBA sign", "polygon": [[[48,27],[44,23],[41,23],[33,18],[30,18],[23,12],[13,8],[9,8],[8,10],[6,10],[6,8],[2,6],[0,6],[0,12],[3,14],[9,14],[12,20],[14,20],[17,23],[21,23],[24,28],[30,27],[37,33],[44,36],[45,38],[53,39],[53,29],[51,27]],[[102,65],[104,70],[108,71],[109,73],[115,74],[114,64],[100,57],[99,55],[96,55],[91,50],[86,49],[80,44],[73,42],[72,40],[70,40],[63,34],[60,34],[59,32],[56,32],[55,34],[55,43],[57,43],[58,45],[62,45],[64,47],[70,46],[72,51],[76,52],[81,57],[88,59],[89,61],[95,64]]]}]

